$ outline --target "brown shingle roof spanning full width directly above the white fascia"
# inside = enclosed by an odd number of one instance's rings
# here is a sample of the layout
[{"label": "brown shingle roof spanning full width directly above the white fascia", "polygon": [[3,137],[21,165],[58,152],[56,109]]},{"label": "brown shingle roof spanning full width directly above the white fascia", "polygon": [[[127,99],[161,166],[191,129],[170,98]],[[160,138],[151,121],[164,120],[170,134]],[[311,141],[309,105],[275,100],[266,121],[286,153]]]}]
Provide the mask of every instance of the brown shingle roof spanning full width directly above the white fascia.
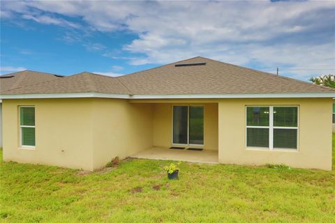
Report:
[{"label": "brown shingle roof spanning full width directly above the white fascia", "polygon": [[[181,63],[202,66],[175,66]],[[133,95],[236,94],[236,93],[335,93],[335,89],[195,57],[121,77],[82,72],[38,84],[11,87],[2,94],[115,93]]]}]

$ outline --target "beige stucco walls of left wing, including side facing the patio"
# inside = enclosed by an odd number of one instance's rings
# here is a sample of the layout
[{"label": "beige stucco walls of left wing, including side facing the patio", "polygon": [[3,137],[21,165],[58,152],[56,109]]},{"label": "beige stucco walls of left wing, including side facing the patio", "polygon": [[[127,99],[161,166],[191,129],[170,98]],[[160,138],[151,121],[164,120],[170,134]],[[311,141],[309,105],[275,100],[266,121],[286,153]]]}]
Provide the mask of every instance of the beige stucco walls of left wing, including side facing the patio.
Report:
[{"label": "beige stucco walls of left wing, including side facing the patio", "polygon": [[[93,170],[152,146],[151,105],[118,99],[3,100],[3,160]],[[21,148],[19,109],[34,105],[36,146]]]}]

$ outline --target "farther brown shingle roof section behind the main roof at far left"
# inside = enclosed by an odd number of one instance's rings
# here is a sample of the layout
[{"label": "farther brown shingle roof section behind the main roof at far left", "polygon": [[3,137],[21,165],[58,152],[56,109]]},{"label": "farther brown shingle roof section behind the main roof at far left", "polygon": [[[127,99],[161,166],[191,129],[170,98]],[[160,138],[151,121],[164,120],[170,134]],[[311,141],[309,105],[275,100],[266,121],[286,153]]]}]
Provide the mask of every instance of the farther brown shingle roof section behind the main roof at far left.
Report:
[{"label": "farther brown shingle roof section behind the main roof at far left", "polygon": [[[57,77],[58,76],[58,77]],[[52,79],[59,79],[59,75],[53,75],[46,72],[37,72],[32,70],[24,70],[13,72],[8,75],[0,76],[0,93],[6,93],[9,89],[17,89],[22,86],[47,82]]]}]

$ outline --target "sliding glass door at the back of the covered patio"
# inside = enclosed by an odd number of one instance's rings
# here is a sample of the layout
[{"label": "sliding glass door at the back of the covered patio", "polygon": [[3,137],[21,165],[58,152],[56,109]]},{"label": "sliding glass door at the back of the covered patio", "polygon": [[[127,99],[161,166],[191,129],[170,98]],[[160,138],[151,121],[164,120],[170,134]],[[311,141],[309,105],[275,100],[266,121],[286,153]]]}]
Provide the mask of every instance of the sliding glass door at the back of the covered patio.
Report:
[{"label": "sliding glass door at the back of the covered patio", "polygon": [[172,144],[204,144],[204,107],[174,106]]}]

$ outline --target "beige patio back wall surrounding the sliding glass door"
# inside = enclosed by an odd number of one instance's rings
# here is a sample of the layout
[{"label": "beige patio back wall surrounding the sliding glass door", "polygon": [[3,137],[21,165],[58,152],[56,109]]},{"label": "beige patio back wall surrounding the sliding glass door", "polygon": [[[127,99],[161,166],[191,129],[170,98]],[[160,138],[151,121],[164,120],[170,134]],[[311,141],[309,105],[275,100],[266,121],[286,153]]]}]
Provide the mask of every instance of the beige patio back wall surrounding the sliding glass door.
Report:
[{"label": "beige patio back wall surrounding the sliding glass door", "polygon": [[172,106],[204,106],[204,149],[218,150],[218,105],[208,103],[177,102],[157,103],[154,106],[153,143],[154,146],[172,146]]}]

